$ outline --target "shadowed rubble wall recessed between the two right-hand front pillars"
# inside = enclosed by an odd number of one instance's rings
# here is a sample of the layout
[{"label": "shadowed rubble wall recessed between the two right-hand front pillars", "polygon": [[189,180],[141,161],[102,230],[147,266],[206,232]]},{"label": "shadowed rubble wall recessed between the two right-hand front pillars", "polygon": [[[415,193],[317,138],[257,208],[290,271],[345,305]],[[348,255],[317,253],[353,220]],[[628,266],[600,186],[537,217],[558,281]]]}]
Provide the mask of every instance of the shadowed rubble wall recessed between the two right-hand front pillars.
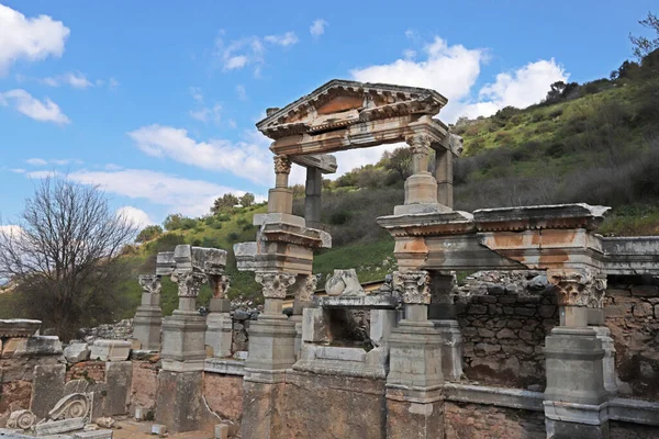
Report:
[{"label": "shadowed rubble wall recessed between the two right-hand front pillars", "polygon": [[455,297],[463,372],[484,384],[545,389],[545,337],[558,325],[556,294],[534,271],[481,272]]}]

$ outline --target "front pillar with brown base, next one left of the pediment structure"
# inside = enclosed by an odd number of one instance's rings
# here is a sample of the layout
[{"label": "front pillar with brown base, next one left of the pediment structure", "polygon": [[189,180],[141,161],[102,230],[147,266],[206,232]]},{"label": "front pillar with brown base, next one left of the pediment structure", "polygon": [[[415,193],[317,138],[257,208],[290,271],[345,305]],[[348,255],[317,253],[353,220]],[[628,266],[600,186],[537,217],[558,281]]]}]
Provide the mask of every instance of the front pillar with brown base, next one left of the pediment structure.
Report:
[{"label": "front pillar with brown base, next one left of the pediment structure", "polygon": [[199,430],[208,420],[202,398],[205,359],[205,318],[197,311],[197,296],[206,275],[175,272],[179,307],[163,324],[163,369],[158,373],[156,421],[171,431]]}]

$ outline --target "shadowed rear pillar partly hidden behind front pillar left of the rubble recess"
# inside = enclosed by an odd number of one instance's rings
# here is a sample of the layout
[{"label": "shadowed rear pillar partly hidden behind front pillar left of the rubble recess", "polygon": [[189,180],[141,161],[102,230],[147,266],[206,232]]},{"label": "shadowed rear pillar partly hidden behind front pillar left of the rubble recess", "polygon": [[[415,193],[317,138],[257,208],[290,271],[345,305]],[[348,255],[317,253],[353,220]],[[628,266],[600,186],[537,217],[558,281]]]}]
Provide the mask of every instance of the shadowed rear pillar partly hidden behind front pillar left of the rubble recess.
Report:
[{"label": "shadowed rear pillar partly hidden behind front pillar left of the rubble recess", "polygon": [[462,376],[462,334],[454,304],[455,286],[455,274],[435,272],[428,309],[428,318],[442,334],[442,372],[450,381],[458,381]]}]

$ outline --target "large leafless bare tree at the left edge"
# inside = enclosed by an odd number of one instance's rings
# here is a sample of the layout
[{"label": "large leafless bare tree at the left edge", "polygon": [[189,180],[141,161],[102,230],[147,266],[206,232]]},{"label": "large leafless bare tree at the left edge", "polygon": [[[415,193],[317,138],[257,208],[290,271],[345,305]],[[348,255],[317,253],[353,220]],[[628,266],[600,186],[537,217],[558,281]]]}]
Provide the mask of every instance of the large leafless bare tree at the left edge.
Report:
[{"label": "large leafless bare tree at the left edge", "polygon": [[68,339],[82,323],[113,318],[120,258],[136,227],[97,187],[45,179],[18,227],[0,234],[0,278],[11,279],[25,314]]}]

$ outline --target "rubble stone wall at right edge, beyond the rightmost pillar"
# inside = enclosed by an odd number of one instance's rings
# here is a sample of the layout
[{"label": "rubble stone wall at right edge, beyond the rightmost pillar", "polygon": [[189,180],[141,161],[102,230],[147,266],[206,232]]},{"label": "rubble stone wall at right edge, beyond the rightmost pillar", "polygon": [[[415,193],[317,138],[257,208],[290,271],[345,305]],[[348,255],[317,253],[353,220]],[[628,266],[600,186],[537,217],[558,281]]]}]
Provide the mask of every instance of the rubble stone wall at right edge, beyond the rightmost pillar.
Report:
[{"label": "rubble stone wall at right edge, beyond the rightmost pillar", "polygon": [[[614,283],[627,280],[627,283]],[[621,393],[658,401],[659,288],[618,278],[606,290],[606,326],[616,350]],[[647,282],[646,282],[647,283]]]}]

